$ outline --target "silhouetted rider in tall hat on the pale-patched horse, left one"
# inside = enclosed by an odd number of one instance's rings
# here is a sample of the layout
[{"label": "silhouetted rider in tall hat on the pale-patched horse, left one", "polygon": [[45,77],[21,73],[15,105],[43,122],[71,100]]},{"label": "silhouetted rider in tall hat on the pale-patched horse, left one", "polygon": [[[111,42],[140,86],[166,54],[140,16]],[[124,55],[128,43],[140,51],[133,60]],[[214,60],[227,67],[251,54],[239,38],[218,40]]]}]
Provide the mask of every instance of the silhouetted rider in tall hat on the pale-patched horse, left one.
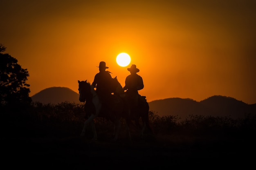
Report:
[{"label": "silhouetted rider in tall hat on the pale-patched horse, left one", "polygon": [[110,104],[111,93],[110,84],[112,81],[112,77],[110,75],[110,71],[106,71],[106,62],[99,63],[99,73],[97,73],[94,77],[94,81],[92,82],[92,86],[96,88],[96,93],[99,96],[99,99],[102,102],[103,107],[107,107]]}]

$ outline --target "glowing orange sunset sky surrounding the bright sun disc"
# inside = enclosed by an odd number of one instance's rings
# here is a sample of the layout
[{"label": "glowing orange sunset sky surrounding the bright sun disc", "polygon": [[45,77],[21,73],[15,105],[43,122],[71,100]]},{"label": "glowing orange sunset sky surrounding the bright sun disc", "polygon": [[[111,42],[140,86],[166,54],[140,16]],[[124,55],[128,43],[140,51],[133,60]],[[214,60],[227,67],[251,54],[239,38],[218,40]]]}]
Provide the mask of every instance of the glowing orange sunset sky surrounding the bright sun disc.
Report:
[{"label": "glowing orange sunset sky surrounding the bright sun disc", "polygon": [[[124,86],[136,64],[148,102],[212,95],[256,103],[256,2],[252,0],[3,0],[0,43],[29,71],[30,96],[78,93],[105,61]],[[131,57],[127,67],[116,56]]]}]

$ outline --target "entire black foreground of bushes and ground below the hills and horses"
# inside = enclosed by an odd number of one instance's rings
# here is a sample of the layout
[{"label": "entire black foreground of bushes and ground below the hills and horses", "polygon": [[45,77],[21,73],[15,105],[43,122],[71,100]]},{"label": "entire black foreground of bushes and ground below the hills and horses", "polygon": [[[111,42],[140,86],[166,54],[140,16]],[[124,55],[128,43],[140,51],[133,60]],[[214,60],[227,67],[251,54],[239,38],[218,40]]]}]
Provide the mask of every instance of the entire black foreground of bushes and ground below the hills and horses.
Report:
[{"label": "entire black foreground of bushes and ground below the hills and horses", "polygon": [[111,141],[112,122],[97,118],[98,140],[85,121],[82,104],[33,103],[28,108],[1,108],[2,163],[11,168],[171,169],[179,167],[249,167],[255,160],[256,117],[244,119],[191,115],[159,117],[150,111],[154,134],[140,138],[125,122],[118,141]]}]

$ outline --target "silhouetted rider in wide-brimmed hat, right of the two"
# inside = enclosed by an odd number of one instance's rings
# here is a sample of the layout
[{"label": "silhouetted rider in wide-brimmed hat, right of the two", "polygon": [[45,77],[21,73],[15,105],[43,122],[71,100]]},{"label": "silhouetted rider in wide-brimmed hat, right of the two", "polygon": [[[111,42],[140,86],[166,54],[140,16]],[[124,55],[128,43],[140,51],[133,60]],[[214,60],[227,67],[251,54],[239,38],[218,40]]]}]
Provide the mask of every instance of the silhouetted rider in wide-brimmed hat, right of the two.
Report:
[{"label": "silhouetted rider in wide-brimmed hat, right of the two", "polygon": [[124,86],[126,101],[130,107],[136,107],[139,105],[139,100],[141,100],[141,95],[139,95],[138,91],[144,88],[143,79],[137,74],[139,69],[136,68],[135,64],[132,64],[127,70],[130,71],[130,75],[126,77]]}]

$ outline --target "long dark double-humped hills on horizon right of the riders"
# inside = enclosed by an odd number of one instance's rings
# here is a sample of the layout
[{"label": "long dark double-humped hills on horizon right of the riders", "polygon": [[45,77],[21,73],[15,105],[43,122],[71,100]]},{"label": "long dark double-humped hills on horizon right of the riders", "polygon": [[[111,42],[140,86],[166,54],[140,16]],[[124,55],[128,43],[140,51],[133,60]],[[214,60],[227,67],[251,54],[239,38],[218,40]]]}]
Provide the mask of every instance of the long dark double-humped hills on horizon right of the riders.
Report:
[{"label": "long dark double-humped hills on horizon right of the riders", "polygon": [[256,104],[246,104],[232,97],[215,95],[197,102],[193,99],[167,98],[148,102],[150,111],[159,116],[173,115],[185,119],[189,115],[211,115],[243,118],[256,114]]}]

